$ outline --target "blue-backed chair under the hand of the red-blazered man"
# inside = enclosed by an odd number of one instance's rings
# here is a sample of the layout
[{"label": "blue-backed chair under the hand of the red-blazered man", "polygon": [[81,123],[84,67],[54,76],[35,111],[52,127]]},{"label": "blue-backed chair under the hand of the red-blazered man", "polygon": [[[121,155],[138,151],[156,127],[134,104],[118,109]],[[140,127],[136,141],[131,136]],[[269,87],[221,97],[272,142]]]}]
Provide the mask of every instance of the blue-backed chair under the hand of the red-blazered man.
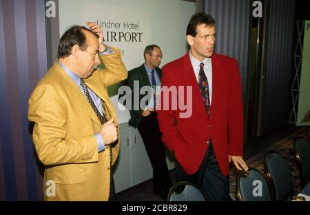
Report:
[{"label": "blue-backed chair under the hand of the red-blazered man", "polygon": [[266,178],[252,167],[238,172],[237,198],[238,201],[271,201]]}]

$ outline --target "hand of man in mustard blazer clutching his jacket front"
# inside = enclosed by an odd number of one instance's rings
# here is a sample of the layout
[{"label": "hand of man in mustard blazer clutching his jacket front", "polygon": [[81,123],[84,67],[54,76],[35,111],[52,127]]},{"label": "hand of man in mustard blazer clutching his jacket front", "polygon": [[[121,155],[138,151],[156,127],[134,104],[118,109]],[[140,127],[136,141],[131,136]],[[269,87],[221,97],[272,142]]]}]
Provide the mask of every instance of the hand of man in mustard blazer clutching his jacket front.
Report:
[{"label": "hand of man in mustard blazer clutching his jacket front", "polygon": [[114,123],[113,117],[102,125],[99,134],[101,135],[105,145],[110,145],[111,143],[114,143],[117,140],[118,130],[117,126]]}]

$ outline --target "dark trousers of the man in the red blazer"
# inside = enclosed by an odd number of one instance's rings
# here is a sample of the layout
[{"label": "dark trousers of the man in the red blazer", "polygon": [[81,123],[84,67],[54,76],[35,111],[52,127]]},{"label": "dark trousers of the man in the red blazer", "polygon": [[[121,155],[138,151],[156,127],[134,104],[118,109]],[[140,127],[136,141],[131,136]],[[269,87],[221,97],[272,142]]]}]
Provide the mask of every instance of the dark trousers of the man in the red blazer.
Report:
[{"label": "dark trousers of the man in the red blazer", "polygon": [[187,174],[176,163],[176,181],[189,181],[200,188],[207,201],[229,201],[228,177],[220,172],[210,141],[207,153],[195,174]]}]

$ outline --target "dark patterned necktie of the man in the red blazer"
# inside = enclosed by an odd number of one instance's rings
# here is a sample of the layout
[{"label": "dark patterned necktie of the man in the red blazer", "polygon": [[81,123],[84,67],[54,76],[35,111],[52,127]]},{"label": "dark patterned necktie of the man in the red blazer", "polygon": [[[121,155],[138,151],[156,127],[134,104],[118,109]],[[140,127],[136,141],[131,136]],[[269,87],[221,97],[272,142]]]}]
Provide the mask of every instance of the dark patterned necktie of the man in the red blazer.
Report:
[{"label": "dark patterned necktie of the man in the red blazer", "polygon": [[205,71],[203,70],[203,63],[200,63],[200,70],[198,76],[198,84],[200,88],[201,96],[203,96],[203,104],[205,105],[205,110],[207,110],[207,115],[210,113],[210,95],[209,95],[209,83],[207,76],[205,76]]}]

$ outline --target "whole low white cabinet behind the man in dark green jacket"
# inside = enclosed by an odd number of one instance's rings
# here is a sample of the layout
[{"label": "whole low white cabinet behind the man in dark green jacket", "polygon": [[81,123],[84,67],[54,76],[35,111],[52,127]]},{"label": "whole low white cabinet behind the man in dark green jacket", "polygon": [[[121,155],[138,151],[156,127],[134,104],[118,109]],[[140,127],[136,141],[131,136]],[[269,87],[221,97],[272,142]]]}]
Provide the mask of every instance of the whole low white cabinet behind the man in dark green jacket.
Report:
[{"label": "whole low white cabinet behind the man in dark green jacket", "polygon": [[[138,130],[128,123],[122,123],[119,127],[120,152],[113,167],[115,192],[147,181],[153,176],[152,165]],[[173,158],[167,158],[167,164],[169,170],[175,167]]]}]

